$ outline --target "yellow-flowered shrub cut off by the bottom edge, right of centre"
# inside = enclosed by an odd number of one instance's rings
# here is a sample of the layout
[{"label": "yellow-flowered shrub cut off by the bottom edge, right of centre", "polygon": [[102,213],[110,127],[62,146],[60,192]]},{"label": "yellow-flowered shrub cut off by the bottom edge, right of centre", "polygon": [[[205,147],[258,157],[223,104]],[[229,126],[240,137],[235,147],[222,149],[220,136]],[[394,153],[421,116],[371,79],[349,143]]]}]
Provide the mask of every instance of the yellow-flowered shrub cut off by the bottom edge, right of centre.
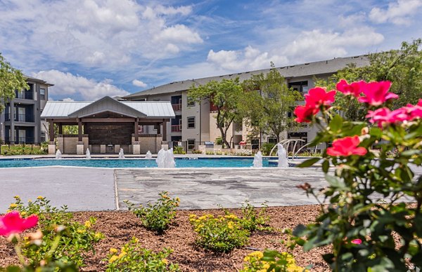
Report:
[{"label": "yellow-flowered shrub cut off by the bottom edge, right of centre", "polygon": [[295,258],[287,252],[269,251],[262,253],[255,251],[245,257],[243,269],[240,272],[280,271],[302,272],[305,268],[296,265]]}]

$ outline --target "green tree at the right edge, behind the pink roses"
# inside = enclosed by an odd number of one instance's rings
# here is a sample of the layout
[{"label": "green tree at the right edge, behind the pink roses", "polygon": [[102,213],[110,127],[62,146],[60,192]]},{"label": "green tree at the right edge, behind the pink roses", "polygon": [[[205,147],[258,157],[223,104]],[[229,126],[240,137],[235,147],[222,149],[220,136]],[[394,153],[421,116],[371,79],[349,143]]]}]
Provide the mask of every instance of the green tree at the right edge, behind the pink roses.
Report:
[{"label": "green tree at the right edge, behind the pink roses", "polygon": [[[316,86],[326,86],[328,90],[335,88],[340,79],[353,81],[391,81],[390,91],[399,95],[392,101],[392,109],[398,109],[406,104],[416,104],[422,97],[422,45],[421,39],[412,43],[403,42],[399,50],[390,50],[369,55],[369,66],[356,67],[349,65],[330,76],[328,80],[317,79]],[[356,100],[350,100],[341,93],[335,97],[335,105],[347,109],[344,112],[348,120],[362,121],[365,110]],[[345,107],[347,106],[347,107]]]}]

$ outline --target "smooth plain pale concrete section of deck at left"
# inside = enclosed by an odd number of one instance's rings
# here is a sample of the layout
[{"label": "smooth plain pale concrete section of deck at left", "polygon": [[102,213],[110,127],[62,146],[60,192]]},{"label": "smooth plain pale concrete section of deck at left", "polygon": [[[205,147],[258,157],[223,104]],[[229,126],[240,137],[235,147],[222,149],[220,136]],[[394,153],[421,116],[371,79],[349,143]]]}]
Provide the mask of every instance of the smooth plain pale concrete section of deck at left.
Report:
[{"label": "smooth plain pale concrete section of deck at left", "polygon": [[51,205],[68,205],[70,211],[115,210],[113,169],[42,168],[0,169],[0,212],[5,212],[13,196],[26,203],[45,196]]}]

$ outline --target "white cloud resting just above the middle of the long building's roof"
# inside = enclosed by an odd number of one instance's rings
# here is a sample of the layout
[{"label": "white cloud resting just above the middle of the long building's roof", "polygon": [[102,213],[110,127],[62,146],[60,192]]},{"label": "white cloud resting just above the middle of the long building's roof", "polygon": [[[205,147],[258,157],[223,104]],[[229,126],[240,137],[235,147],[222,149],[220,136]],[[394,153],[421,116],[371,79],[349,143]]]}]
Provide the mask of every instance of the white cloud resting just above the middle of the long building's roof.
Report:
[{"label": "white cloud resting just above the middle of the long building's roof", "polygon": [[210,50],[207,61],[227,71],[250,71],[269,68],[270,62],[276,66],[286,64],[286,57],[268,52],[262,53],[257,48],[248,46],[243,50]]}]

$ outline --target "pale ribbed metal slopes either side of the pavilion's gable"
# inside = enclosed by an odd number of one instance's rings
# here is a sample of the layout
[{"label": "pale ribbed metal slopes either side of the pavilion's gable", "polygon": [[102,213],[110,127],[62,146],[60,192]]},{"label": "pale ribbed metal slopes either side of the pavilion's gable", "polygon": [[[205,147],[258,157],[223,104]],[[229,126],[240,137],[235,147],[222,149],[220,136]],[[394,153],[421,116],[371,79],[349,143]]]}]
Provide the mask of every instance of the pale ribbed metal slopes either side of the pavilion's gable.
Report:
[{"label": "pale ribbed metal slopes either side of the pavilion's gable", "polygon": [[[101,100],[103,100],[101,98]],[[98,101],[98,100],[97,100]],[[95,101],[47,101],[41,118],[68,118],[75,111],[83,109]],[[169,101],[117,101],[139,111],[143,118],[174,118],[172,104]],[[110,109],[113,111],[113,109]]]}]

